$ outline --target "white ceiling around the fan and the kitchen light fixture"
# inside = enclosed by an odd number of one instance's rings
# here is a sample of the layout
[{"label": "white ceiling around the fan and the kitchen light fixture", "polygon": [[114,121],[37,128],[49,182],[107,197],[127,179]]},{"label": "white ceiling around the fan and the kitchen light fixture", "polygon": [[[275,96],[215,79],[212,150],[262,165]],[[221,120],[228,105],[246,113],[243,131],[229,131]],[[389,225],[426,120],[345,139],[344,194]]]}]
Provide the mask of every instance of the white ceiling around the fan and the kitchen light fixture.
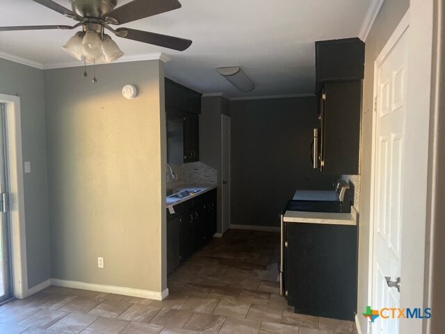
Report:
[{"label": "white ceiling around the fan and the kitchen light fixture", "polygon": [[[69,0],[55,0],[70,8]],[[226,97],[304,95],[314,93],[314,41],[357,37],[372,0],[179,0],[182,8],[124,24],[193,40],[179,52],[113,37],[123,60],[171,57],[165,75],[200,93]],[[118,0],[118,6],[129,0]],[[0,25],[76,22],[31,0],[1,0]],[[79,30],[79,29],[78,29]],[[60,47],[74,31],[0,32],[0,56],[21,58],[36,67],[72,66]],[[256,88],[241,93],[216,67],[241,66]],[[81,73],[79,72],[79,75]]]}]

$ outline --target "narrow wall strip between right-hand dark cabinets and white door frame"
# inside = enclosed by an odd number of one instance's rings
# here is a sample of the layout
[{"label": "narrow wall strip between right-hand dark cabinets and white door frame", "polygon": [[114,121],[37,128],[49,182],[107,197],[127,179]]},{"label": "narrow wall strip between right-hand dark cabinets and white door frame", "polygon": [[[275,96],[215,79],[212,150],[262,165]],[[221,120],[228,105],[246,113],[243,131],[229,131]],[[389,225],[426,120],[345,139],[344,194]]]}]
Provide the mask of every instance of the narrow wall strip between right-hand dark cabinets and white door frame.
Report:
[{"label": "narrow wall strip between right-hand dark cabinets and white door frame", "polygon": [[[360,189],[360,228],[359,228],[359,281],[358,312],[364,312],[369,305],[369,219],[371,205],[371,148],[374,61],[377,58],[396,26],[410,7],[410,0],[385,1],[374,25],[366,38],[365,74],[362,107],[362,148],[361,148],[361,189]],[[363,311],[362,311],[363,310]],[[359,318],[362,333],[366,333],[366,321]]]}]

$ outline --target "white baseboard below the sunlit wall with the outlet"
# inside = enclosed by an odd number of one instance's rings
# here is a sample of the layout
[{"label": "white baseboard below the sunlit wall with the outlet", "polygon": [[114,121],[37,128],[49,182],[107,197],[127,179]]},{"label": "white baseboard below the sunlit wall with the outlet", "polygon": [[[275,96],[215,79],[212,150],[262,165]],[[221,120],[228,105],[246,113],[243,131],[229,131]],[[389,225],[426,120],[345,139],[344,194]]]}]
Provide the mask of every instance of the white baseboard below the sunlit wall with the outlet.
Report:
[{"label": "white baseboard below the sunlit wall with the outlet", "polygon": [[73,289],[106,292],[108,294],[123,294],[124,296],[148,298],[156,301],[162,301],[168,296],[168,289],[163,290],[163,292],[156,292],[143,289],[133,289],[131,287],[117,287],[115,285],[78,282],[76,280],[59,280],[58,278],[52,278],[51,285],[56,285],[56,287],[71,287]]}]

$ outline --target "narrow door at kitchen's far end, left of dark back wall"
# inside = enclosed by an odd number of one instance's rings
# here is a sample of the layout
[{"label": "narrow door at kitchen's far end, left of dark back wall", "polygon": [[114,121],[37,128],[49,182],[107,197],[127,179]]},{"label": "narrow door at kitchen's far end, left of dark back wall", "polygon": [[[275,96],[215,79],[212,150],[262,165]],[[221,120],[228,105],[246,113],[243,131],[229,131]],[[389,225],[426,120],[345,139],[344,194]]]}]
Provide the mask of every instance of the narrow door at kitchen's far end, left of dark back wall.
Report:
[{"label": "narrow door at kitchen's far end, left of dark back wall", "polygon": [[221,115],[221,233],[230,228],[230,118]]}]

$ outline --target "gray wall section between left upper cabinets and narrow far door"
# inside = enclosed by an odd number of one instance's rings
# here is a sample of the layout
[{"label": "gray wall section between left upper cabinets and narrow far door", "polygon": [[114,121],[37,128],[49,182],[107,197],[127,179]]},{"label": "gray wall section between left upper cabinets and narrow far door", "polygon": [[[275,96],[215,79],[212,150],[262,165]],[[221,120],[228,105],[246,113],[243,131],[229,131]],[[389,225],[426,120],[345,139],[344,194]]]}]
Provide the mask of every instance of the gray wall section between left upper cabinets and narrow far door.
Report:
[{"label": "gray wall section between left upper cabinets and narrow far door", "polygon": [[215,168],[217,177],[217,232],[221,232],[221,115],[229,115],[229,101],[224,97],[202,97],[200,114],[200,161]]}]

